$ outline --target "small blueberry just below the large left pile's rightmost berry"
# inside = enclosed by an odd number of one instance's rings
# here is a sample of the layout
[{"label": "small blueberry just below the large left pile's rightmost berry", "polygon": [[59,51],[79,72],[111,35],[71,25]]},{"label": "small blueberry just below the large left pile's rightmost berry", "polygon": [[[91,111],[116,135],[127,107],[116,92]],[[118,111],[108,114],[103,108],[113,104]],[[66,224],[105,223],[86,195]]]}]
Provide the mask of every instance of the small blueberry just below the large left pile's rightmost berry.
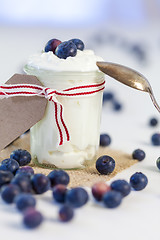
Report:
[{"label": "small blueberry just below the large left pile's rightmost berry", "polygon": [[70,206],[64,205],[60,208],[59,210],[60,221],[68,222],[73,218],[73,216],[74,216],[74,211]]}]

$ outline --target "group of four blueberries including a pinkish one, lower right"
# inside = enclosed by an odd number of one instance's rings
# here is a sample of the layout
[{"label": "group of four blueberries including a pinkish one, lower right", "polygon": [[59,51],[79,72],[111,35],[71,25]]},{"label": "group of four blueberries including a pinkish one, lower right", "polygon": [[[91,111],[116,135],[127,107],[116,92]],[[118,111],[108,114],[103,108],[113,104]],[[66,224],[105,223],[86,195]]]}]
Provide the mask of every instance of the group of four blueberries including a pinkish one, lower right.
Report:
[{"label": "group of four blueberries including a pinkish one, lower right", "polygon": [[107,208],[115,208],[120,205],[122,199],[126,197],[133,188],[136,191],[144,189],[148,184],[146,175],[136,172],[130,177],[130,183],[126,180],[115,180],[109,186],[105,182],[98,182],[92,186],[92,194],[94,198]]}]

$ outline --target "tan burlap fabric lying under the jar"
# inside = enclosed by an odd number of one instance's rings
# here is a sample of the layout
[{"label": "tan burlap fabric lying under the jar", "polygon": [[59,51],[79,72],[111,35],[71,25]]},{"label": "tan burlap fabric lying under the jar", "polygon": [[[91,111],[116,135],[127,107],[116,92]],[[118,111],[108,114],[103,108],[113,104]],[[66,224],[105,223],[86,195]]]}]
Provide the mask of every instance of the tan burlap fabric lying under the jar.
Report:
[{"label": "tan burlap fabric lying under the jar", "polygon": [[[11,145],[6,147],[0,152],[0,160],[8,158],[10,153],[15,149],[26,149],[30,151],[29,143],[29,133],[22,135],[20,138],[15,140]],[[95,164],[91,167],[80,170],[67,170],[70,176],[70,187],[75,186],[92,186],[95,182],[98,181],[107,181],[114,177],[117,173],[123,171],[126,168],[129,168],[131,165],[135,164],[137,161],[132,159],[132,156],[121,151],[111,149],[109,147],[100,147],[98,151],[98,156],[109,155],[115,159],[116,167],[115,170],[110,175],[100,175],[95,168]],[[39,167],[34,163],[30,164],[35,173],[48,174],[51,169],[46,167]]]}]

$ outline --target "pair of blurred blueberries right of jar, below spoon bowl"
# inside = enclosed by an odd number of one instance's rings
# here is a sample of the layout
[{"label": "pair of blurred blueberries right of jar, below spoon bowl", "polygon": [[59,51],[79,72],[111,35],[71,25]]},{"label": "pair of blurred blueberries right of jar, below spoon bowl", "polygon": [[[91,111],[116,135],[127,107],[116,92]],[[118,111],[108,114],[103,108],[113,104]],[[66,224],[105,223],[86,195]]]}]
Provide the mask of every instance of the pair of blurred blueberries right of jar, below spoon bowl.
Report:
[{"label": "pair of blurred blueberries right of jar, below spoon bowl", "polygon": [[114,111],[122,110],[122,104],[115,98],[115,95],[111,91],[105,91],[103,93],[103,105],[110,103]]}]

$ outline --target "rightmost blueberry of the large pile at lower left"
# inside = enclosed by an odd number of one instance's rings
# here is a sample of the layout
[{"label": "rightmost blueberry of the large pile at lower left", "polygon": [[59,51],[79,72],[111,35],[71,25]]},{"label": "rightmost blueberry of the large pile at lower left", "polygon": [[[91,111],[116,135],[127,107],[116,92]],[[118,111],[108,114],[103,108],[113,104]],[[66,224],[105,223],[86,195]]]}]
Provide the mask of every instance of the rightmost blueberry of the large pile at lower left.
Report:
[{"label": "rightmost blueberry of the large pile at lower left", "polygon": [[73,208],[82,207],[88,202],[88,193],[84,188],[76,187],[67,191],[66,203]]}]

